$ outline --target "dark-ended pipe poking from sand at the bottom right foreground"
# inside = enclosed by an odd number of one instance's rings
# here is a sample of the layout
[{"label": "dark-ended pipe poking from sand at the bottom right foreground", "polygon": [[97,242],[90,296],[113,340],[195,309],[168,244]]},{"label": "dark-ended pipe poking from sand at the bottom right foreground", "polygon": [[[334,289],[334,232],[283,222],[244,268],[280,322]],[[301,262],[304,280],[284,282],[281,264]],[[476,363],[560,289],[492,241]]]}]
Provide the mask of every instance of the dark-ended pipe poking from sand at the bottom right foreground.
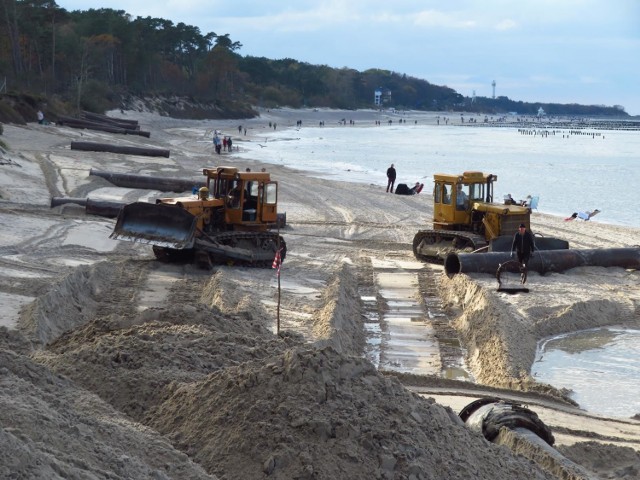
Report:
[{"label": "dark-ended pipe poking from sand at the bottom right foreground", "polygon": [[464,407],[459,416],[486,440],[529,458],[557,478],[597,478],[553,448],[551,429],[535,412],[519,403],[481,398]]}]

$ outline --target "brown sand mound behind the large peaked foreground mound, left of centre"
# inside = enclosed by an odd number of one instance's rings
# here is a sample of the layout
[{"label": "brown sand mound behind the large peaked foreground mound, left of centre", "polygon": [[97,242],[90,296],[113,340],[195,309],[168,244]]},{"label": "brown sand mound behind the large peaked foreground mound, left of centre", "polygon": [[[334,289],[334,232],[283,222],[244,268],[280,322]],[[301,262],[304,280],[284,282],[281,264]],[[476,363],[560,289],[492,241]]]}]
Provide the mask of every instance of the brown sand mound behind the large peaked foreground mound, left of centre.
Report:
[{"label": "brown sand mound behind the large peaked foreground mound, left of centre", "polygon": [[174,382],[196,381],[290,345],[287,336],[229,320],[203,305],[145,311],[127,321],[130,327],[117,316],[100,317],[33,358],[140,420]]}]

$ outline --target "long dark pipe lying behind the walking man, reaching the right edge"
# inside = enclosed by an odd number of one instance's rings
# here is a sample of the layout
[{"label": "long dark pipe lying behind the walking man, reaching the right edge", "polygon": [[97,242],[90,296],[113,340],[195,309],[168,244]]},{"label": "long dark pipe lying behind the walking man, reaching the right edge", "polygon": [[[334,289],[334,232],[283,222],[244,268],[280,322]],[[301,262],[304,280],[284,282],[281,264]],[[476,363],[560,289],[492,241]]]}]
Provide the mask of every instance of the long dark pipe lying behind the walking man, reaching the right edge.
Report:
[{"label": "long dark pipe lying behind the walking man, reaching the right edge", "polygon": [[[509,252],[450,253],[444,261],[449,278],[458,273],[495,274],[511,260]],[[594,248],[586,250],[539,250],[527,263],[529,272],[564,272],[575,267],[622,267],[640,269],[640,247]]]}]

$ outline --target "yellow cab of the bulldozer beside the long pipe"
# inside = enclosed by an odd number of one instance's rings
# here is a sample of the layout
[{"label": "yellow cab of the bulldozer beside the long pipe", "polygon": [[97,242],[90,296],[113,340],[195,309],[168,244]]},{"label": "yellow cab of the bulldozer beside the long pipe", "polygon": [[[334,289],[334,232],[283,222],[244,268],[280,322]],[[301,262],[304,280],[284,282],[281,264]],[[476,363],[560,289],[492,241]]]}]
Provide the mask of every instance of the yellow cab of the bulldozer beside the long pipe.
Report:
[{"label": "yellow cab of the bulldozer beside the long pipe", "polygon": [[493,201],[495,175],[465,172],[462,175],[435,174],[433,226],[439,230],[469,229],[476,221],[474,205]]}]

